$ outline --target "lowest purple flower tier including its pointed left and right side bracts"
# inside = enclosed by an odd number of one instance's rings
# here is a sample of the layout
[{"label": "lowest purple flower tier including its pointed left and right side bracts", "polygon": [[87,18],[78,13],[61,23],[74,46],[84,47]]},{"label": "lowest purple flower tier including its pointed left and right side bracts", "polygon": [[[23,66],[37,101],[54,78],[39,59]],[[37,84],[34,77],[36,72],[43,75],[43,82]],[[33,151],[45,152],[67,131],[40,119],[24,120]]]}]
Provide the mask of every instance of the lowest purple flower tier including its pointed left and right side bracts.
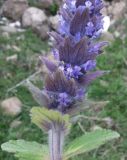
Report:
[{"label": "lowest purple flower tier including its pointed left and right side bracts", "polygon": [[[87,87],[92,80],[102,74],[104,74],[102,71],[86,74],[80,79],[80,83]],[[63,114],[72,114],[74,110],[80,109],[85,97],[85,89],[80,87],[74,79],[67,79],[60,70],[47,74],[42,90],[30,82],[27,83],[27,87],[40,106],[58,110]]]}]

